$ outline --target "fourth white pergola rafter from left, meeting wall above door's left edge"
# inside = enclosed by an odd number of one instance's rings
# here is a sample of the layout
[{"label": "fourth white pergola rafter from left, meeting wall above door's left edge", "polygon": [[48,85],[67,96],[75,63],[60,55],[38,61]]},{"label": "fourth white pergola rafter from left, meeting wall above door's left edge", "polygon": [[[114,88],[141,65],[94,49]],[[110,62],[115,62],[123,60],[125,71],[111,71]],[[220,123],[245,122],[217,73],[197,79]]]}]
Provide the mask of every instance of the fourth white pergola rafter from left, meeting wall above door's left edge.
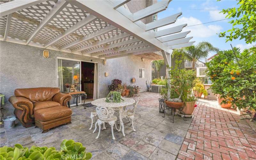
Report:
[{"label": "fourth white pergola rafter from left, meeting wall above door's left edge", "polygon": [[77,39],[74,42],[71,42],[71,43],[61,47],[60,51],[62,51],[64,49],[68,49],[68,48],[70,48],[70,47],[72,47],[72,46],[74,46],[76,44],[88,41],[88,40],[90,40],[92,38],[95,38],[97,36],[100,36],[100,35],[103,35],[105,33],[108,33],[109,31],[114,30],[114,29],[116,29],[116,27],[114,27],[112,25],[108,25],[108,26],[106,26],[104,28],[101,28],[100,30],[97,30],[96,32],[93,32],[93,33],[91,33],[91,34],[89,34],[87,36],[84,36],[83,38]]}]

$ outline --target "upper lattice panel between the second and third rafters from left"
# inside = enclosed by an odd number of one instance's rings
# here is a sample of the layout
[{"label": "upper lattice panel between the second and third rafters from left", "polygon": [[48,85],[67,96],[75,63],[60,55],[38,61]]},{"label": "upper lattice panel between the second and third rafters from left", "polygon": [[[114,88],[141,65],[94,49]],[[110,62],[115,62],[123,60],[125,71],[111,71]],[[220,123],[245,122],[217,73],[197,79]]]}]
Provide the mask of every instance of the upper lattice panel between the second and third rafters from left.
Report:
[{"label": "upper lattice panel between the second and third rafters from left", "polygon": [[75,5],[68,4],[49,24],[66,30],[86,17],[86,14]]}]

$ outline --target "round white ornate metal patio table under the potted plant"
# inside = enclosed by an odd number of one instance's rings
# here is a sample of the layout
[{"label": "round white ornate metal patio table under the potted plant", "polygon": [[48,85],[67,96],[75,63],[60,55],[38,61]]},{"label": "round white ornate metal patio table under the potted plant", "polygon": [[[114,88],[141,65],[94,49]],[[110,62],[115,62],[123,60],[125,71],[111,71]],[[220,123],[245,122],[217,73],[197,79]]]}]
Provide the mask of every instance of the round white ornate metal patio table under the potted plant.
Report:
[{"label": "round white ornate metal patio table under the potted plant", "polygon": [[129,106],[132,105],[133,103],[135,103],[135,100],[131,99],[131,98],[122,98],[124,101],[120,102],[120,103],[114,103],[114,102],[106,102],[106,98],[100,98],[97,100],[93,100],[91,103],[94,106],[107,106],[107,107],[111,107],[114,110],[119,110],[119,119],[120,119],[120,129],[118,132],[120,132],[122,130],[123,136],[125,137],[124,134],[124,123],[122,120],[122,113],[123,113],[123,108],[125,106]]}]

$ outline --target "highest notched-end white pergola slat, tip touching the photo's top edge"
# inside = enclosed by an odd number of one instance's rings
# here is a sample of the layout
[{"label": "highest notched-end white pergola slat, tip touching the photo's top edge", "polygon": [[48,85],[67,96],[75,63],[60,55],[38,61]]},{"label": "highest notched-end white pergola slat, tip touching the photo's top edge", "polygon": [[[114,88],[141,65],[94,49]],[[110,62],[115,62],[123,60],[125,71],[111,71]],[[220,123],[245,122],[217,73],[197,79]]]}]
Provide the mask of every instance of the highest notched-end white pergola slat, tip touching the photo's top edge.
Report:
[{"label": "highest notched-end white pergola slat, tip touching the photo's top edge", "polygon": [[171,0],[162,0],[160,2],[157,2],[156,4],[150,5],[138,12],[135,12],[132,15],[132,21],[136,22],[138,20],[142,20],[148,16],[166,10],[170,2]]}]

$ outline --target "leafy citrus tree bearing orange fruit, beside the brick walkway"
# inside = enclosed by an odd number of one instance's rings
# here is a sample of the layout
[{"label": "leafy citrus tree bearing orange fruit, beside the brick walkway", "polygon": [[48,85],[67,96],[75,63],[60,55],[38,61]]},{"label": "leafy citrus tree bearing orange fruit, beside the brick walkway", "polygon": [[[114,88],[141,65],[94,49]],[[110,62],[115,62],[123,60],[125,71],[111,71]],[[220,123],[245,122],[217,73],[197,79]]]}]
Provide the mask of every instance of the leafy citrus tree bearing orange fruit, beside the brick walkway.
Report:
[{"label": "leafy citrus tree bearing orange fruit, beside the brick walkway", "polygon": [[239,109],[256,110],[256,48],[220,51],[210,62],[207,75],[212,80],[210,89]]}]

